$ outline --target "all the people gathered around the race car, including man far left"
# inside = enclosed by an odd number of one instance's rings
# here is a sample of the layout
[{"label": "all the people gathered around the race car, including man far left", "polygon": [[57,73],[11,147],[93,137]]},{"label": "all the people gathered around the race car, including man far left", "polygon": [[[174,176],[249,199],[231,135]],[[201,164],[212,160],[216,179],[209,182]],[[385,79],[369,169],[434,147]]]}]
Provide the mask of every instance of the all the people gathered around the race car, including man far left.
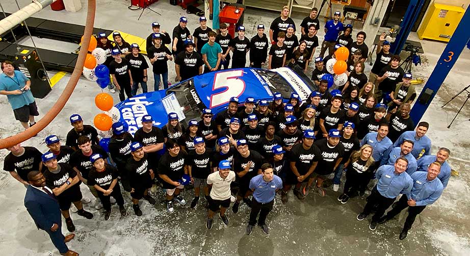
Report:
[{"label": "all the people gathered around the race car, including man far left", "polygon": [[[451,174],[447,162],[450,150],[442,147],[431,155],[431,140],[426,136],[429,123],[420,122],[413,130],[409,112],[416,93],[410,85],[411,74],[399,67],[399,56],[388,52],[390,43],[384,40],[385,34],[380,36],[377,59],[368,77],[363,74],[368,56],[365,33],[357,33],[354,41],[352,27],[344,26],[339,21],[341,14],[334,13],[324,26],[320,56],[312,59],[320,45],[317,14],[313,8],[302,21],[300,40],[294,35],[296,24],[288,17],[289,8],[283,8],[273,21],[269,36],[259,24],[251,41],[245,37],[243,26],[238,28],[237,37],[230,38],[225,24],[217,34],[207,27],[205,17],[199,19],[200,27],[192,34],[186,27],[187,18],[181,17],[173,38],[153,22],[147,53],[155,90],[160,81],[164,88],[169,85],[168,61],[175,61],[176,81],[180,81],[203,71],[228,68],[230,60],[232,68],[245,67],[247,52],[252,67],[299,65],[306,70],[312,60],[312,81],[318,90],[306,102],[295,92],[289,99],[276,92],[271,101],[231,97],[226,110],[214,115],[211,109],[204,109],[201,120],[188,120],[187,127],[178,121],[176,113],[169,113],[168,123],[161,128],[146,115],[134,136],[118,121],[112,126],[108,150],[99,146],[96,129],[73,114],[69,119],[73,128],[66,134],[65,144],[60,135],[49,135],[45,139],[49,150],[44,153],[20,144],[8,148],[4,170],[27,187],[24,204],[38,228],[50,235],[62,254],[77,255],[65,245],[73,237],[62,235],[58,212],[69,232],[75,231],[69,210],[87,219],[94,217],[84,208],[92,199],[82,196],[83,183],[94,197],[94,207],[103,209],[105,220],[110,219],[115,203],[120,215],[127,215],[126,198],[130,198],[134,214],[142,216],[140,201],[156,204],[159,200],[155,196],[160,193],[152,188],[161,187],[170,214],[177,210],[176,204],[183,206],[191,201],[190,209],[207,208],[205,226],[211,229],[217,212],[222,223],[229,225],[226,210],[230,204],[232,213],[237,214],[244,203],[251,208],[246,234],[250,235],[256,224],[268,234],[266,218],[276,194],[286,204],[292,187],[295,197],[302,201],[309,192],[336,194],[344,182],[343,191],[337,193],[341,204],[353,197],[362,200],[371,190],[356,217],[361,221],[373,213],[371,231],[408,208],[399,236],[405,239],[416,215],[446,188]],[[98,47],[113,55],[107,65],[121,91],[120,98],[135,95],[138,84],[146,91],[147,66],[139,46],[126,43],[119,33],[113,35],[114,45],[106,35],[98,37]],[[171,45],[171,49],[165,45]],[[334,48],[339,46],[351,51],[349,80],[344,87],[329,91],[328,81],[322,79],[327,72],[324,63],[334,58]],[[327,50],[329,55],[323,58]],[[20,95],[24,86],[29,90],[27,79],[10,70],[9,65],[2,64],[5,73],[0,78],[0,93]],[[35,105],[22,97],[26,105],[21,111],[14,107],[14,112],[27,125],[29,120],[34,121]],[[331,179],[332,192],[327,190]],[[194,197],[189,198],[191,193],[185,186],[192,187]],[[186,211],[193,211],[190,209]]]}]

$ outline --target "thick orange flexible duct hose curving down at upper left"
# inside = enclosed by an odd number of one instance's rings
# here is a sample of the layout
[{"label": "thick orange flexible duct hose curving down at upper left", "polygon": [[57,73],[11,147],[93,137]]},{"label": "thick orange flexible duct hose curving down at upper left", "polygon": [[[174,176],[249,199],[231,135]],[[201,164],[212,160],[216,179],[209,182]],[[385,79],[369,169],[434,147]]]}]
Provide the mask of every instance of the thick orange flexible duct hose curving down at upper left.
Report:
[{"label": "thick orange flexible duct hose curving down at upper left", "polygon": [[73,69],[70,80],[68,81],[67,86],[60,95],[56,104],[54,104],[54,106],[41,118],[41,120],[39,120],[28,130],[5,139],[0,139],[0,149],[11,147],[35,136],[41,132],[52,120],[54,120],[54,118],[56,118],[59,112],[64,108],[83,72],[83,65],[88,53],[88,45],[90,44],[90,38],[92,36],[93,25],[95,22],[95,10],[96,0],[88,0],[87,21],[85,23],[85,32],[79,57],[76,61],[75,68]]}]

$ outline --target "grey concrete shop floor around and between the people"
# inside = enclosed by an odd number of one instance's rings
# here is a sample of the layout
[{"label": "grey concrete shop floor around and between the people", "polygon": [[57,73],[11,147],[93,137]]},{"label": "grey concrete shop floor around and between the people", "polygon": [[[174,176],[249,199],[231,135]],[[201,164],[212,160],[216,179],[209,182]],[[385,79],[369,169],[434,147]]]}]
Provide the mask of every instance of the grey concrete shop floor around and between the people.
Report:
[{"label": "grey concrete shop floor around and between the people", "polygon": [[[2,0],[7,12],[14,12],[15,5]],[[20,6],[30,2],[20,0]],[[83,1],[82,1],[83,2]],[[77,13],[65,11],[54,12],[50,8],[34,15],[46,19],[84,24],[86,15],[84,9]],[[198,17],[186,14],[179,7],[160,1],[151,6],[152,9],[162,13],[159,16],[148,10],[140,21],[137,17],[140,11],[127,9],[129,1],[99,1],[95,18],[95,27],[116,29],[146,37],[150,32],[150,23],[159,21],[162,29],[171,33],[181,15],[189,18],[188,27],[192,32],[198,26]],[[248,9],[245,15],[247,36],[255,34],[258,23],[269,27],[271,21],[278,16],[277,12],[267,12],[257,9]],[[300,24],[304,15],[295,14],[296,24]],[[321,19],[322,25],[324,20]],[[210,27],[212,27],[209,24]],[[354,32],[354,34],[357,31]],[[297,33],[300,38],[300,33]],[[320,43],[323,40],[323,31],[319,31]],[[372,36],[372,35],[369,35]],[[410,39],[417,40],[412,33]],[[25,40],[27,43],[28,40]],[[60,43],[51,43],[36,39],[38,47],[58,47]],[[132,42],[129,42],[132,43]],[[417,78],[427,79],[440,57],[446,44],[433,41],[422,41],[425,55],[423,64],[413,66],[413,75]],[[369,46],[372,48],[372,46]],[[318,55],[318,51],[315,56]],[[375,55],[374,55],[375,56]],[[402,58],[405,58],[403,55]],[[364,198],[356,197],[347,204],[340,204],[336,197],[340,192],[333,192],[330,188],[325,197],[311,193],[301,202],[291,193],[289,203],[283,205],[277,198],[271,214],[268,216],[270,234],[265,235],[256,227],[250,236],[245,235],[245,227],[249,209],[242,203],[238,214],[227,212],[230,224],[224,226],[215,217],[212,230],[208,231],[204,224],[206,210],[202,207],[204,199],[201,198],[195,210],[189,208],[189,203],[176,206],[174,214],[167,214],[163,203],[150,206],[142,203],[144,215],[137,217],[130,206],[130,199],[125,196],[129,215],[119,217],[117,207],[113,207],[111,219],[103,220],[103,214],[92,208],[92,204],[85,205],[95,217],[86,220],[83,217],[71,214],[76,226],[76,237],[68,243],[70,249],[80,252],[81,255],[469,255],[470,254],[470,175],[468,169],[467,151],[470,138],[467,134],[470,112],[468,106],[462,109],[451,129],[447,125],[460,108],[465,95],[457,97],[447,107],[440,106],[458,93],[467,85],[470,75],[468,65],[470,53],[464,49],[452,72],[437,93],[433,103],[426,112],[423,120],[429,121],[431,126],[428,136],[432,139],[432,153],[438,147],[446,146],[452,150],[449,160],[454,169],[460,171],[460,176],[453,176],[449,186],[441,198],[416,219],[408,238],[400,241],[398,235],[403,226],[403,213],[399,219],[379,225],[375,232],[369,230],[369,219],[357,221],[356,215],[364,206]],[[173,81],[175,74],[172,63],[170,65],[169,79]],[[371,66],[368,64],[367,73]],[[309,71],[311,72],[311,71]],[[54,72],[50,72],[53,75]],[[44,99],[37,99],[41,116],[54,105],[64,89],[70,75],[67,74],[53,91]],[[153,83],[150,78],[149,85]],[[424,85],[417,86],[417,90]],[[150,91],[152,86],[149,86]],[[99,113],[94,105],[94,96],[101,92],[94,82],[81,79],[67,105],[57,118],[46,129],[28,141],[22,143],[35,146],[42,152],[46,150],[44,138],[50,134],[59,135],[65,141],[66,132],[71,129],[68,117],[72,113],[80,113],[85,123],[92,123],[93,117]],[[119,101],[118,95],[113,94],[115,103]],[[88,104],[87,104],[88,103]],[[22,130],[19,123],[14,121],[13,113],[5,96],[0,97],[0,136],[5,138]],[[41,117],[40,116],[40,117]],[[7,155],[7,150],[0,150],[0,165]],[[92,195],[82,188],[88,197]],[[343,187],[340,188],[340,191]],[[0,172],[0,251],[5,255],[58,255],[58,251],[43,231],[38,231],[23,206],[24,187],[16,182],[5,171]],[[186,191],[183,196],[190,201],[192,191]],[[163,200],[163,192],[156,194],[158,200]],[[68,234],[63,223],[63,232]]]}]

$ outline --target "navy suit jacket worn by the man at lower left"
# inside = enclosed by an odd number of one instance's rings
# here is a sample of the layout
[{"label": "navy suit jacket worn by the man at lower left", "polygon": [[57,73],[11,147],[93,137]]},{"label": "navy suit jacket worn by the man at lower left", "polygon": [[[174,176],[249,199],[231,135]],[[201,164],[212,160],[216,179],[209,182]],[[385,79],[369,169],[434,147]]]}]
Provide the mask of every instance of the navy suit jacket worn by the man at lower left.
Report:
[{"label": "navy suit jacket worn by the man at lower left", "polygon": [[31,185],[26,189],[24,195],[24,206],[30,213],[36,226],[44,231],[50,231],[54,223],[61,226],[61,212],[59,202],[52,197]]}]

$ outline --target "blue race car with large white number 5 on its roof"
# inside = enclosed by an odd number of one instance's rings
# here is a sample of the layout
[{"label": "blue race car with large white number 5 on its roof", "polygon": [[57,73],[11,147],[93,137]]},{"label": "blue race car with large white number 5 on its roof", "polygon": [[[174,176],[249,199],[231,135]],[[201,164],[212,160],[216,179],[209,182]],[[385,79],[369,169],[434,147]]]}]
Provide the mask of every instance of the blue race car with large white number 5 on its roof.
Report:
[{"label": "blue race car with large white number 5 on its roof", "polygon": [[179,121],[186,124],[191,119],[200,120],[201,111],[210,108],[214,115],[227,109],[230,97],[246,97],[256,100],[273,100],[273,93],[280,92],[285,100],[292,92],[299,94],[303,102],[317,86],[299,69],[281,67],[272,70],[256,68],[227,69],[205,73],[168,88],[136,95],[116,107],[121,121],[129,125],[129,133],[142,127],[144,115],[151,115],[154,125],[164,126],[167,113],[178,114]]}]

